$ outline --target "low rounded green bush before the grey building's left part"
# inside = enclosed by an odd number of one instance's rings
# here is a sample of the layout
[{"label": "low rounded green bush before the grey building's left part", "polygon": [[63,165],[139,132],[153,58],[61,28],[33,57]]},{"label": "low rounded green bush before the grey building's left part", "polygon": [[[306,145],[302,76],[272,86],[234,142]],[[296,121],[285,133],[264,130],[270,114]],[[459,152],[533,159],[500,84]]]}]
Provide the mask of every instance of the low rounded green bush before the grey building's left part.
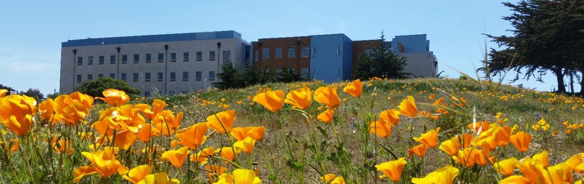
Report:
[{"label": "low rounded green bush before the grey building's left part", "polygon": [[86,81],[75,90],[93,97],[103,97],[102,92],[110,88],[124,91],[130,98],[135,98],[141,94],[140,90],[132,88],[126,82],[110,77]]}]

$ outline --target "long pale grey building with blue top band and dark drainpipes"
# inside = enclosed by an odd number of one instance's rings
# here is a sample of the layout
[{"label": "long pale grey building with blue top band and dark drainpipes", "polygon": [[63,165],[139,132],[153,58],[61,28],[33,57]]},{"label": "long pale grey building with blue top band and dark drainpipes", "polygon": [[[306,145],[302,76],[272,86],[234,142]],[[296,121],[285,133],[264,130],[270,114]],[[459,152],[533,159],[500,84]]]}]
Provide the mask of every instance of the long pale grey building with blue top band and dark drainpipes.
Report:
[{"label": "long pale grey building with blue top band and dark drainpipes", "polygon": [[250,45],[236,31],[88,38],[62,42],[60,92],[112,77],[144,96],[208,88],[223,62],[243,66]]}]

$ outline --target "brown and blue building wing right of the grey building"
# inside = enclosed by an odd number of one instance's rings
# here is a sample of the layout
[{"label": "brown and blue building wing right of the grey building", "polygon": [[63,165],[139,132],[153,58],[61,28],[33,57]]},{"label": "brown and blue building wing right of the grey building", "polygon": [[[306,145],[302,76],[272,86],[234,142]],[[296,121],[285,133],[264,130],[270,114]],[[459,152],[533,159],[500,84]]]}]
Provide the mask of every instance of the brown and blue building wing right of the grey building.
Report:
[{"label": "brown and blue building wing right of the grey building", "polygon": [[[380,42],[381,39],[352,41],[345,34],[262,38],[252,42],[253,63],[269,70],[293,68],[305,78],[325,82],[349,80],[359,55],[371,52]],[[429,51],[429,43],[425,34],[396,36],[384,42],[388,51],[406,57],[404,71],[411,77],[436,77],[437,60]]]}]

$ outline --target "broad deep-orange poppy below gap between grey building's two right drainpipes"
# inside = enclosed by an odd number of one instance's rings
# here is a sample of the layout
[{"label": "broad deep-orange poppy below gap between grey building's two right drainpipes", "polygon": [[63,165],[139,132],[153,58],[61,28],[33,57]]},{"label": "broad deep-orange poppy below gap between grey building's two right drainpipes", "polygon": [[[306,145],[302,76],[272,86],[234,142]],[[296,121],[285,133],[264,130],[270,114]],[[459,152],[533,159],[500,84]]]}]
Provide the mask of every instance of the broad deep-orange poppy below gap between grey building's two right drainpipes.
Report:
[{"label": "broad deep-orange poppy below gap between grey building's two right drainpipes", "polygon": [[207,122],[199,122],[188,128],[176,131],[175,137],[180,140],[183,146],[187,146],[191,150],[196,150],[207,140],[205,134],[208,129]]}]

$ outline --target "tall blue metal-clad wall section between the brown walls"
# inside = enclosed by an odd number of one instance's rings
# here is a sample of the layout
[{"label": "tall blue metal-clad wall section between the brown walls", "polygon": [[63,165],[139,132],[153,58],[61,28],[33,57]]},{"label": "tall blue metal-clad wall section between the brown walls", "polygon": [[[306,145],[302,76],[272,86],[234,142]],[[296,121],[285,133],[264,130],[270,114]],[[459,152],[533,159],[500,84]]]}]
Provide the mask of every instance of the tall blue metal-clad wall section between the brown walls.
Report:
[{"label": "tall blue metal-clad wall section between the brown walls", "polygon": [[[342,49],[340,56],[337,55],[336,50],[338,45]],[[317,48],[317,55],[314,56],[311,53],[310,71],[315,69],[317,80],[336,82],[350,77],[352,45],[352,41],[344,34],[311,36],[310,46]],[[337,70],[340,70],[339,77],[337,77]]]}]

